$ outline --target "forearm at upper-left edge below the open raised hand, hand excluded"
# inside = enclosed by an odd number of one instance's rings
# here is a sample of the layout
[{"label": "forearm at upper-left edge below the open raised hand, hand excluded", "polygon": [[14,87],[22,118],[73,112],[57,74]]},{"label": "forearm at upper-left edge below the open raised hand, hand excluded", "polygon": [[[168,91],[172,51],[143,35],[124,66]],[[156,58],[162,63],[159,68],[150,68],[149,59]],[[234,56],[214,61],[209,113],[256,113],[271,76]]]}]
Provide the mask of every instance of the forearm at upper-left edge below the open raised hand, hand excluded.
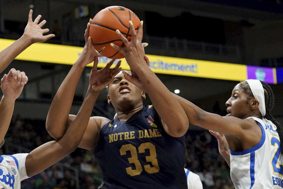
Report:
[{"label": "forearm at upper-left edge below the open raised hand, hand excluded", "polygon": [[0,51],[0,72],[2,72],[21,52],[32,45],[32,41],[26,35],[16,40],[7,48]]}]

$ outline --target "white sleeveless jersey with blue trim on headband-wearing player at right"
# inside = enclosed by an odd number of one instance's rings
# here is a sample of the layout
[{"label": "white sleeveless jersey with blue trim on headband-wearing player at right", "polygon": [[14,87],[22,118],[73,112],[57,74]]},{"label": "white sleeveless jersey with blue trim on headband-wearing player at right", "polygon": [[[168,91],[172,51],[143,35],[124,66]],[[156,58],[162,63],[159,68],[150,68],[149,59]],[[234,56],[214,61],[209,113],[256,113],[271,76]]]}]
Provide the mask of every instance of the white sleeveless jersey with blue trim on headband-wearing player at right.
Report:
[{"label": "white sleeveless jersey with blue trim on headband-wearing player at right", "polygon": [[[283,158],[276,126],[256,118],[262,136],[259,144],[230,151],[231,179],[236,189],[283,188]],[[248,119],[248,118],[247,118]]]}]

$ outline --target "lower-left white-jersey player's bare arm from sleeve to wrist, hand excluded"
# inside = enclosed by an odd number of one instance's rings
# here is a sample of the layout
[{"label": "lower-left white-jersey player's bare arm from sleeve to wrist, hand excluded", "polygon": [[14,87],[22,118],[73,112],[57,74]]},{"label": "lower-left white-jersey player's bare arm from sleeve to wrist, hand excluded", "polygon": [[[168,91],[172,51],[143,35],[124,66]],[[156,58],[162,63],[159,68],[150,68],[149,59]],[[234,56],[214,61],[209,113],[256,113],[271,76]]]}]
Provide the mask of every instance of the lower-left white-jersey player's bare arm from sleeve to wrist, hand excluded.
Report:
[{"label": "lower-left white-jersey player's bare arm from sleeve to wrist, hand excluded", "polygon": [[29,153],[26,170],[29,177],[36,175],[73,152],[85,133],[93,105],[99,93],[89,90],[75,119],[58,141],[45,143]]}]

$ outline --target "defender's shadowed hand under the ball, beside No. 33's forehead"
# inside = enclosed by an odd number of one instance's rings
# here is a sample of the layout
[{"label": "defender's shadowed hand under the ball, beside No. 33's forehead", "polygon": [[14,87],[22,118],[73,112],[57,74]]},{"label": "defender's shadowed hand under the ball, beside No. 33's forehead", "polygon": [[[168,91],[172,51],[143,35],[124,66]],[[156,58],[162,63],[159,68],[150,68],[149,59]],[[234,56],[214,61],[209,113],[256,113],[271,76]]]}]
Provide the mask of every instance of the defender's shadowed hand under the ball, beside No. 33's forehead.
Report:
[{"label": "defender's shadowed hand under the ball, beside No. 33's forehead", "polygon": [[94,58],[93,67],[89,76],[89,85],[93,91],[100,92],[110,84],[114,77],[121,71],[121,68],[119,68],[121,61],[119,61],[113,69],[109,70],[114,61],[115,59],[112,59],[103,69],[97,70],[98,58]]}]

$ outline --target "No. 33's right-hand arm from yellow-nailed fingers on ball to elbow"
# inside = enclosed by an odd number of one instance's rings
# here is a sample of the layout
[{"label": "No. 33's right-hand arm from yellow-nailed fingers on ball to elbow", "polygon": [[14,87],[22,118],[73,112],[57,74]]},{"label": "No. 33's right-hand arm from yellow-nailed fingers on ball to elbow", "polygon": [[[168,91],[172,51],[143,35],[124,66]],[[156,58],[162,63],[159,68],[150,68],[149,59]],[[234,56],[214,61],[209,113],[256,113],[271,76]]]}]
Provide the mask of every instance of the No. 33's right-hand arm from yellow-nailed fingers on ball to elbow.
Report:
[{"label": "No. 33's right-hand arm from yellow-nailed fingers on ball to elbow", "polygon": [[[142,21],[139,25],[138,34],[135,32],[133,23],[130,21],[129,24],[132,36],[131,42],[117,30],[116,32],[124,42],[126,48],[120,48],[113,43],[111,43],[111,46],[125,56],[131,70],[135,72],[137,78],[143,84],[143,90],[148,93],[154,108],[162,119],[164,130],[174,137],[183,136],[189,127],[189,121],[185,111],[171,92],[147,66],[144,59],[144,46],[146,44],[141,43],[143,32]],[[123,73],[126,79],[130,77],[126,72]]]}]

